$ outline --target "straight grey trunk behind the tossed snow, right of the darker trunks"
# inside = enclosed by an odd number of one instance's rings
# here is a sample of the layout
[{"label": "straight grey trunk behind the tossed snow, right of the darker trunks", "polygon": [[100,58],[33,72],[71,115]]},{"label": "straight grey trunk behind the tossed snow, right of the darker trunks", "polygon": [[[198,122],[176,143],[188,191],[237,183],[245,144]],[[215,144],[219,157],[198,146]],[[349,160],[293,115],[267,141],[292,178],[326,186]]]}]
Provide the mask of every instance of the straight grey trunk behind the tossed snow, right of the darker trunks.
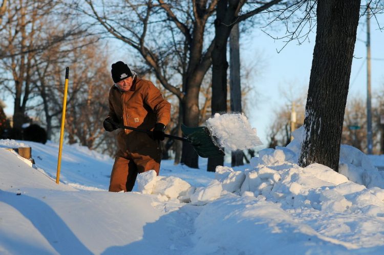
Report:
[{"label": "straight grey trunk behind the tossed snow, right of the darker trunks", "polygon": [[[240,82],[240,47],[239,24],[233,26],[229,35],[229,88],[231,112],[241,113],[241,82]],[[244,165],[243,151],[232,152],[232,166]]]}]

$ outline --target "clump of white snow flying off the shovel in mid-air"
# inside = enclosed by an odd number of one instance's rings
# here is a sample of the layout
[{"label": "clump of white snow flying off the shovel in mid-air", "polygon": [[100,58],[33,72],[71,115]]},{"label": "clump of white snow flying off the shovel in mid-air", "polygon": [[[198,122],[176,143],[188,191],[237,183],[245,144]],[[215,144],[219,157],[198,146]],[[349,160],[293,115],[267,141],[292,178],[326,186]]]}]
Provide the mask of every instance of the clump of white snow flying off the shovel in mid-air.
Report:
[{"label": "clump of white snow flying off the shovel in mid-air", "polygon": [[220,145],[230,151],[246,150],[263,144],[244,114],[216,113],[206,123],[211,134],[219,139]]}]

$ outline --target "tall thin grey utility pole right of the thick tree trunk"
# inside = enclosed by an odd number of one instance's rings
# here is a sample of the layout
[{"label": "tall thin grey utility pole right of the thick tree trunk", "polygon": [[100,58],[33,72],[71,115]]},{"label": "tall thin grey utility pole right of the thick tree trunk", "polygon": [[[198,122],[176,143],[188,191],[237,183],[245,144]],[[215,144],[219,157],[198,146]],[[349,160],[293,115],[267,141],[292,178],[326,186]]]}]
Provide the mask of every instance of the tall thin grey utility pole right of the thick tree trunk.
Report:
[{"label": "tall thin grey utility pole right of the thick tree trunk", "polygon": [[372,114],[371,114],[371,9],[367,8],[367,143],[368,154],[372,154]]}]

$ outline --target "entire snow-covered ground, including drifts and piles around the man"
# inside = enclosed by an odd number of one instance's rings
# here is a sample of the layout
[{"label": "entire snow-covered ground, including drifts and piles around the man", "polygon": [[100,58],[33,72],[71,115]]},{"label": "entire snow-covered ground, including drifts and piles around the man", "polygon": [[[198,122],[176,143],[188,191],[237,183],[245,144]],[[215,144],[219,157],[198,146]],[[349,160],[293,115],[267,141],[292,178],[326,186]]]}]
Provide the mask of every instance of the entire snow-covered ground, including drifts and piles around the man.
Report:
[{"label": "entire snow-covered ground, including drifts and piles around the man", "polygon": [[[113,159],[0,140],[0,254],[384,254],[384,165],[342,146],[340,174],[287,147],[216,173],[163,161],[109,193]],[[1,147],[30,145],[35,165]],[[380,162],[378,162],[380,161]]]}]

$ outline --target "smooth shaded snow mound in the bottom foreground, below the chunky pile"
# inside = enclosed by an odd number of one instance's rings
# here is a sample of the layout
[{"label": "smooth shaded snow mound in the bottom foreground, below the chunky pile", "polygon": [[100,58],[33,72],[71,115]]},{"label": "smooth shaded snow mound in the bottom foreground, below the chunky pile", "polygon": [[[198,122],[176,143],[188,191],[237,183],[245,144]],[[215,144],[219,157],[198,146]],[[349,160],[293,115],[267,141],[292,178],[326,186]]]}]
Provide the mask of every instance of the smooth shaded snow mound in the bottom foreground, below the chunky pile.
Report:
[{"label": "smooth shaded snow mound in the bottom foreground, below the chunky pile", "polygon": [[[203,207],[191,254],[351,254],[272,202],[225,196]],[[371,253],[372,254],[372,253]],[[376,253],[378,254],[378,253]]]}]

